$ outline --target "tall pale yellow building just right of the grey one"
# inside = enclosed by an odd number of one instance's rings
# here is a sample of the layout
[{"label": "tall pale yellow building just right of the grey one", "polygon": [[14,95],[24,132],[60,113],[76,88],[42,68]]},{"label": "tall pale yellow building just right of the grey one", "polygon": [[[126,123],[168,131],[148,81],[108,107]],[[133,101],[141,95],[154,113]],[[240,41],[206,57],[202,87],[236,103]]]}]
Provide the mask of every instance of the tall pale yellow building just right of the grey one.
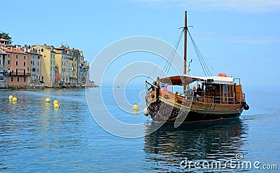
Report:
[{"label": "tall pale yellow building just right of the grey one", "polygon": [[55,84],[55,51],[53,46],[44,44],[33,46],[38,54],[42,55],[41,74],[42,81],[52,87]]}]

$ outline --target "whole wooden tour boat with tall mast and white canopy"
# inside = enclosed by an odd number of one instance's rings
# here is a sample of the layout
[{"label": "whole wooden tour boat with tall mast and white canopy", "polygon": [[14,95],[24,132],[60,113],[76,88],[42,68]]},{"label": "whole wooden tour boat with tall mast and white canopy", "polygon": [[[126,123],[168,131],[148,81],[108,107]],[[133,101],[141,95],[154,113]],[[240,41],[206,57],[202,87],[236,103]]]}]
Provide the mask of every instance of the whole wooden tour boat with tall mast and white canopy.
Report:
[{"label": "whole wooden tour boat with tall mast and white canopy", "polygon": [[[248,110],[245,94],[242,92],[240,78],[231,78],[226,74],[218,76],[190,76],[186,73],[187,55],[187,13],[185,12],[184,69],[183,75],[159,78],[155,83],[146,81],[154,90],[147,90],[146,109],[153,120],[158,122],[195,122],[238,118],[242,111]],[[189,33],[189,32],[188,32]],[[193,40],[193,38],[191,38]],[[189,90],[188,85],[200,83],[199,95]],[[181,85],[183,92],[167,92],[163,85]],[[148,88],[148,87],[147,87]]]}]

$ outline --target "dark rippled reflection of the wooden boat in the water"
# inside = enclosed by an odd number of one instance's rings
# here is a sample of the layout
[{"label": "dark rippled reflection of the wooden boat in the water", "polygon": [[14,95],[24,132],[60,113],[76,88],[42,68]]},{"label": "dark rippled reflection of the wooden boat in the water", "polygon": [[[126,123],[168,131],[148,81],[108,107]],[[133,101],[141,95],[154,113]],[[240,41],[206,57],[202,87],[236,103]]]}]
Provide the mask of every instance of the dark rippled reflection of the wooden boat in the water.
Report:
[{"label": "dark rippled reflection of the wooden boat in the water", "polygon": [[[174,123],[165,123],[150,134],[158,123],[146,126],[145,146],[147,169],[181,172],[180,163],[189,161],[226,162],[236,160],[242,151],[247,125],[241,120],[223,122],[183,123],[174,127]],[[194,165],[190,166],[194,169]],[[192,170],[188,171],[192,171]],[[194,169],[193,171],[197,171]],[[186,171],[186,170],[185,170]],[[213,169],[212,169],[213,171]],[[221,170],[225,171],[225,169]],[[227,171],[235,171],[228,169]]]}]

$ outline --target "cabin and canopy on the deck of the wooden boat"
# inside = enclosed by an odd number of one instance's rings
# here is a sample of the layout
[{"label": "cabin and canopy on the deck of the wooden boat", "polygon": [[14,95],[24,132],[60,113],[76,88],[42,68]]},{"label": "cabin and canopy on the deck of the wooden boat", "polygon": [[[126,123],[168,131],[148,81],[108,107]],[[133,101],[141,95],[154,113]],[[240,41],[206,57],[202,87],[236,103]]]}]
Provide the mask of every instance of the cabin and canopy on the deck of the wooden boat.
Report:
[{"label": "cabin and canopy on the deck of the wooden boat", "polygon": [[[179,97],[193,97],[194,102],[204,102],[212,104],[241,104],[244,102],[244,93],[242,92],[240,79],[230,78],[226,76],[171,76],[167,78],[161,78],[160,83],[162,86],[165,84],[172,85],[172,92],[174,85],[193,85],[200,84],[202,91],[200,94],[195,94],[193,90],[188,92],[183,90],[181,92],[175,92],[175,95]],[[190,87],[192,88],[192,87]]]}]

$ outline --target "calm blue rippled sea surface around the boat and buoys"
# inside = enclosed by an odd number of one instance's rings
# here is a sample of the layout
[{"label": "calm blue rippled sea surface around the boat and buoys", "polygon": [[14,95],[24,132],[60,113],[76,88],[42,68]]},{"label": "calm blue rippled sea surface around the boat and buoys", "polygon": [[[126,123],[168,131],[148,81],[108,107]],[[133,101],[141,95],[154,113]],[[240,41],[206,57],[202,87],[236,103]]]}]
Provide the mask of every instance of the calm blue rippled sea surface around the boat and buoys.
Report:
[{"label": "calm blue rippled sea surface around the boat and buoys", "polygon": [[[92,95],[88,105],[102,115],[103,102],[94,99],[100,90],[90,88],[87,93]],[[127,101],[139,103],[140,91],[126,88]],[[265,170],[252,165],[248,172],[279,172],[280,90],[247,87],[244,92],[250,110],[238,120],[187,123],[178,128],[165,124],[150,134],[158,124],[142,113],[119,109],[111,90],[105,89],[104,102],[114,117],[126,123],[144,123],[144,137],[127,139],[99,127],[87,107],[84,89],[0,90],[0,172],[207,172],[190,161],[200,162],[200,166],[202,162],[224,163],[237,160],[237,153],[243,157],[241,161],[260,162],[260,168],[277,166]],[[9,102],[9,95],[16,95],[18,102]],[[47,96],[52,101],[58,99],[60,109],[46,104]],[[125,100],[119,103],[127,106]],[[142,103],[140,110],[143,108]],[[185,169],[180,165],[186,158],[190,167]],[[208,171],[244,170],[228,165],[227,169]]]}]

